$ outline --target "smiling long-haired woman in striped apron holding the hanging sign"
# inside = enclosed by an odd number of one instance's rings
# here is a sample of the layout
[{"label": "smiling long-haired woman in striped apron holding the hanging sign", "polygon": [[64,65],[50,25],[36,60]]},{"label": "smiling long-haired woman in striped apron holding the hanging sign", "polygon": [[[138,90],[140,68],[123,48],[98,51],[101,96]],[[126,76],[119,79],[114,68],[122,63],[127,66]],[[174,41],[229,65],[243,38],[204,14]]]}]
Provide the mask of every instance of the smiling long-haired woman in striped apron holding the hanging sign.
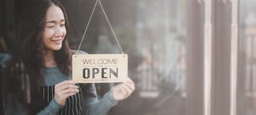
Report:
[{"label": "smiling long-haired woman in striped apron holding the hanging sign", "polygon": [[18,100],[27,113],[103,115],[134,92],[134,82],[128,79],[98,101],[94,84],[71,80],[68,20],[61,3],[31,0],[24,8],[18,33],[22,44],[4,83],[7,97]]}]

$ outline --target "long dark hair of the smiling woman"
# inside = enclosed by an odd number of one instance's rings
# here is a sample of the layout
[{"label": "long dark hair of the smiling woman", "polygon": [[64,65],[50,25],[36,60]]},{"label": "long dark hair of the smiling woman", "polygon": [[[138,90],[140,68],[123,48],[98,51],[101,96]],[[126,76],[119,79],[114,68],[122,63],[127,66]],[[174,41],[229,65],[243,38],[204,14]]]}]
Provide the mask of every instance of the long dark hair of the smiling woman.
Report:
[{"label": "long dark hair of the smiling woman", "polygon": [[[26,6],[23,6],[21,20],[18,27],[18,50],[13,54],[10,65],[6,69],[4,89],[7,93],[14,93],[14,96],[34,110],[35,106],[42,102],[38,101],[40,97],[40,86],[43,85],[44,52],[42,43],[42,32],[46,22],[46,10],[50,6],[58,6],[62,9],[65,17],[66,33],[68,34],[69,23],[66,11],[58,0],[27,0]],[[66,34],[66,37],[67,37]],[[71,52],[67,44],[67,38],[62,42],[61,50],[54,51],[54,59],[63,73],[71,73]],[[21,82],[23,78],[23,81]],[[25,79],[25,80],[24,80]],[[11,81],[11,85],[10,82]],[[26,96],[20,96],[22,87],[26,85]],[[32,112],[34,113],[34,112]]]}]

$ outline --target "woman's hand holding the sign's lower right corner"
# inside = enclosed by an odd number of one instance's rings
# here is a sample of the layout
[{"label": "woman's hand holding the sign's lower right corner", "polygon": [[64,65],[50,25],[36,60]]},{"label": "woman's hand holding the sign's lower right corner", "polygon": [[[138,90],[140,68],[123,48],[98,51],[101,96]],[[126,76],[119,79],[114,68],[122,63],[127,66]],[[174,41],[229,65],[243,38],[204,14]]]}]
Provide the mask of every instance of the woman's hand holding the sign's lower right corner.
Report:
[{"label": "woman's hand holding the sign's lower right corner", "polygon": [[113,90],[114,99],[117,101],[121,101],[130,96],[131,93],[134,92],[135,85],[134,81],[132,81],[129,77],[127,77],[126,81],[115,85]]}]

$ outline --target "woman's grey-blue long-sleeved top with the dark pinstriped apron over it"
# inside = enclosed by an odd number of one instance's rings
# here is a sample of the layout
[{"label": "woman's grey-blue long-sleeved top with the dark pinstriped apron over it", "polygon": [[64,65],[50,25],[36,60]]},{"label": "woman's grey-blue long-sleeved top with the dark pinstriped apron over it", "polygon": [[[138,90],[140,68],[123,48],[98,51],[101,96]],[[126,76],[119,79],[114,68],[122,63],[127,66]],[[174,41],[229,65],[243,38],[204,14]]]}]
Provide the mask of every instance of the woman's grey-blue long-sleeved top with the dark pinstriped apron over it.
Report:
[{"label": "woman's grey-blue long-sleeved top with the dark pinstriped apron over it", "polygon": [[66,99],[64,106],[59,105],[54,100],[54,85],[61,81],[70,80],[71,77],[56,67],[46,67],[44,73],[45,86],[43,86],[43,98],[48,103],[38,115],[55,115],[55,114],[86,114],[86,115],[106,115],[112,106],[116,105],[113,93],[110,90],[101,100],[98,101],[94,84],[90,87],[90,93],[94,93],[96,97],[89,97],[81,89],[81,84],[78,85],[79,93],[70,96]]}]

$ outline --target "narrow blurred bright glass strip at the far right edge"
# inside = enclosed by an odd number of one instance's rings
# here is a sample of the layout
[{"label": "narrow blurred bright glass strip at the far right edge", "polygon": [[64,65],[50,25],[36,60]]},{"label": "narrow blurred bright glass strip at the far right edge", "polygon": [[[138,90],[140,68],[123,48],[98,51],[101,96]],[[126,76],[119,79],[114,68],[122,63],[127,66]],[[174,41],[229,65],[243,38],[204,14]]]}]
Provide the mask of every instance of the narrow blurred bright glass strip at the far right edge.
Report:
[{"label": "narrow blurred bright glass strip at the far right edge", "polygon": [[256,114],[256,1],[240,1],[238,114]]}]

